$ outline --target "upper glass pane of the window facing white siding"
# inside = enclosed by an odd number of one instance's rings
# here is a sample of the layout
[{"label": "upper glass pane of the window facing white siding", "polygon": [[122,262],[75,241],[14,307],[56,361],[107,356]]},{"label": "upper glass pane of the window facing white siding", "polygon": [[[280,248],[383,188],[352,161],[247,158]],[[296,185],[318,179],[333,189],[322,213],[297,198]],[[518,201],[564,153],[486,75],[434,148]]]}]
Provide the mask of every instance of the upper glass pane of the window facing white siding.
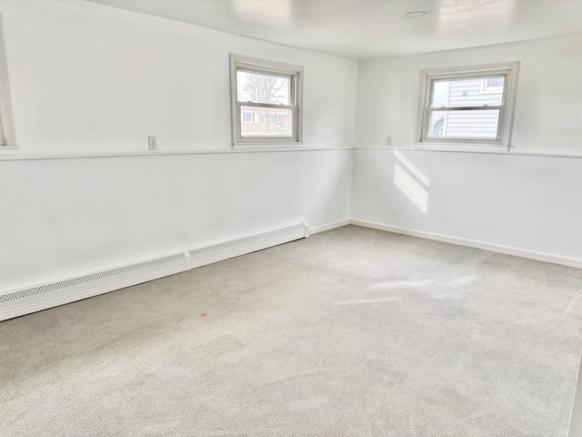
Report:
[{"label": "upper glass pane of the window facing white siding", "polygon": [[485,107],[501,105],[505,77],[435,80],[431,107]]}]

